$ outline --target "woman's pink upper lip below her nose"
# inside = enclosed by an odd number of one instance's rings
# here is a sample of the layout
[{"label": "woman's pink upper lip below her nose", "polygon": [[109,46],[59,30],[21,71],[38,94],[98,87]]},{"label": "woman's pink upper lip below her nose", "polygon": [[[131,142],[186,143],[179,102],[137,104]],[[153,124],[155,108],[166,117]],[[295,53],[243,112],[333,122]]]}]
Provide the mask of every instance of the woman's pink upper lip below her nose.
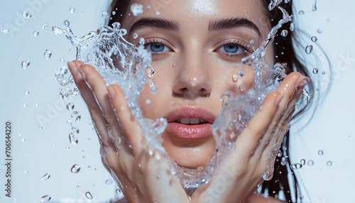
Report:
[{"label": "woman's pink upper lip below her nose", "polygon": [[200,121],[203,120],[204,123],[207,122],[209,124],[213,124],[216,116],[200,106],[185,106],[180,109],[175,109],[174,111],[171,111],[167,116],[165,116],[165,119],[167,119],[168,123],[179,121],[182,118],[195,118],[200,119]]}]

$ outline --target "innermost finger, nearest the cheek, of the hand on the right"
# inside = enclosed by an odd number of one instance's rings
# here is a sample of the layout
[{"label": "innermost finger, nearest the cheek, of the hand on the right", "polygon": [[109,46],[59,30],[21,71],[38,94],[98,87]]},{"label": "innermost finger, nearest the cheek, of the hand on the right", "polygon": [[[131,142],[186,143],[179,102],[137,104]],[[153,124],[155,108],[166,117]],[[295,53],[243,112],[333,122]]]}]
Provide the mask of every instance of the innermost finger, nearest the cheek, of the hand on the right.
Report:
[{"label": "innermost finger, nearest the cheek, of the hand on the right", "polygon": [[256,150],[264,131],[271,123],[281,99],[283,99],[283,94],[280,94],[280,92],[271,92],[266,96],[259,111],[249,121],[249,124],[236,140],[236,150],[250,155]]}]

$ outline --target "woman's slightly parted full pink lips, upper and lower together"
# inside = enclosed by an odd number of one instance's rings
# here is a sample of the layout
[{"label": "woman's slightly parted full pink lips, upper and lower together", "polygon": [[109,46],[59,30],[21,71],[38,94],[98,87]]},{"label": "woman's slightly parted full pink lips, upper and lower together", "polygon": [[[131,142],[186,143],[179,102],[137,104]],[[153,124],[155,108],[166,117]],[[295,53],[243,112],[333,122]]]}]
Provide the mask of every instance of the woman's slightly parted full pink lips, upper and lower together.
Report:
[{"label": "woman's slightly parted full pink lips, upper and lower together", "polygon": [[[216,117],[200,107],[184,107],[166,116],[165,130],[178,138],[197,140],[212,135]],[[188,124],[190,123],[190,124]]]}]

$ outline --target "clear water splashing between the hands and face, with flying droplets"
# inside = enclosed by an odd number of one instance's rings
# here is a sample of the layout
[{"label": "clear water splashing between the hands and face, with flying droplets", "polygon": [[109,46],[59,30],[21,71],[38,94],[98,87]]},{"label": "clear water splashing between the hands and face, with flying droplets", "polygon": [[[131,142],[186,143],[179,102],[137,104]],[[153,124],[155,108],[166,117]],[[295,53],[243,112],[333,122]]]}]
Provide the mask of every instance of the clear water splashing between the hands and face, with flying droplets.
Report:
[{"label": "clear water splashing between the hands and face, with flying droplets", "polygon": [[[98,31],[92,31],[82,38],[78,38],[72,33],[69,21],[65,21],[65,29],[54,26],[52,31],[56,35],[65,34],[67,39],[70,40],[72,45],[77,49],[77,60],[82,60],[82,62],[95,67],[107,84],[119,84],[124,90],[126,100],[129,101],[129,107],[136,117],[136,121],[138,121],[138,124],[143,129],[143,136],[146,138],[148,148],[158,151],[161,155],[165,156],[165,158],[170,161],[170,172],[178,177],[183,187],[187,190],[191,190],[209,182],[214,168],[218,167],[226,153],[229,153],[229,151],[234,148],[234,142],[241,131],[243,131],[246,124],[248,124],[250,119],[256,114],[266,98],[266,95],[277,89],[280,82],[285,78],[285,67],[283,67],[283,65],[277,63],[273,65],[273,67],[269,67],[264,59],[266,50],[272,45],[278,29],[280,29],[283,24],[292,21],[292,16],[289,16],[285,10],[278,7],[280,2],[282,1],[271,1],[268,8],[279,9],[283,13],[283,19],[278,22],[278,25],[271,29],[263,44],[253,54],[242,60],[244,65],[253,67],[256,74],[253,88],[245,91],[245,94],[238,96],[233,92],[226,92],[226,94],[222,95],[223,110],[219,113],[219,116],[212,126],[213,136],[218,150],[214,153],[209,165],[197,169],[180,168],[174,160],[169,157],[168,153],[166,153],[161,145],[162,139],[160,137],[165,130],[167,121],[163,118],[157,119],[156,121],[146,119],[141,113],[141,109],[139,109],[137,99],[143,89],[143,85],[148,83],[152,92],[157,92],[158,94],[159,91],[150,79],[150,77],[153,77],[153,68],[150,65],[151,55],[144,49],[143,39],[141,39],[138,46],[127,42],[122,37],[126,35],[126,30],[121,29],[119,23],[114,23],[113,28],[103,26],[99,28]],[[131,7],[131,11],[135,16],[143,12],[137,5]],[[107,13],[103,12],[102,15],[107,16]],[[293,29],[292,24],[290,31],[293,31]],[[283,35],[287,35],[287,32],[288,31],[283,31]],[[146,77],[147,72],[148,77]],[[242,72],[239,73],[239,77],[243,77]],[[73,84],[72,75],[70,75],[66,67],[57,72],[55,78],[62,86],[60,89],[60,97],[62,99],[69,101],[69,99],[79,94],[77,87]],[[234,76],[232,80],[236,82],[237,78],[237,76]],[[244,87],[239,87],[239,89],[244,91]],[[303,95],[304,99],[302,101],[304,104],[307,104],[310,95],[307,94],[306,91],[303,91]],[[297,104],[297,106],[304,104]],[[71,125],[71,128],[75,128],[73,124],[76,121],[80,121],[80,112],[73,111],[74,104],[71,102],[67,102],[67,109],[72,111],[72,116],[67,120],[67,123]],[[285,131],[287,131],[289,127],[290,126],[285,126]],[[234,133],[231,135],[231,133],[228,133],[230,131]],[[69,138],[72,145],[78,143],[75,132],[79,133],[79,129],[75,128],[75,131],[70,132]],[[120,145],[122,142],[118,141],[116,143]],[[119,146],[117,147],[119,148]],[[275,147],[270,152],[268,170],[263,175],[264,180],[271,179],[273,175],[274,158],[277,154],[278,148]],[[152,156],[152,158],[157,157]],[[295,168],[302,167],[302,164],[300,165],[301,166],[295,165]],[[71,170],[72,172],[79,172],[80,167],[73,165]],[[114,179],[116,180],[115,177]],[[118,182],[118,185],[121,184]],[[87,198],[92,198],[91,194],[89,197],[88,195]]]}]

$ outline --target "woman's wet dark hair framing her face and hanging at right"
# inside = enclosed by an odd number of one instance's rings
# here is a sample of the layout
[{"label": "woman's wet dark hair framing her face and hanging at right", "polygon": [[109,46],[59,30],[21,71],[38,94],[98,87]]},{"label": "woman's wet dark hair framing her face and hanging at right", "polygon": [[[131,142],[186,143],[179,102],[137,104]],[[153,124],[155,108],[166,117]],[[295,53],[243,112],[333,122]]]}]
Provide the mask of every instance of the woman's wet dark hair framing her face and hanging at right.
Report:
[{"label": "woman's wet dark hair framing her face and hanging at right", "polygon": [[[124,20],[124,16],[129,9],[130,0],[114,0],[111,4],[111,11],[116,11],[115,15],[111,15],[109,20],[109,26],[111,26],[114,22],[121,23]],[[266,15],[268,16],[271,26],[275,26],[280,19],[283,18],[283,13],[278,9],[273,9],[273,11],[268,11],[268,4],[270,4],[270,0],[262,0],[262,6],[266,9]],[[285,9],[290,15],[293,13],[292,0],[288,2],[288,4],[281,3],[280,6]],[[291,71],[297,71],[302,73],[302,75],[308,76],[309,73],[302,62],[299,60],[300,57],[295,53],[295,49],[293,47],[294,43],[297,43],[297,40],[293,36],[293,32],[289,31],[288,35],[282,36],[280,32],[285,29],[289,30],[290,23],[285,23],[283,28],[280,28],[278,31],[278,35],[274,40],[274,54],[276,57],[276,62],[286,63],[289,70],[286,70],[287,73]],[[312,94],[312,83],[309,84],[310,93]],[[308,105],[309,106],[309,105]],[[302,111],[305,109],[302,109]],[[300,113],[301,111],[299,111]],[[286,133],[283,139],[283,143],[280,148],[280,152],[283,154],[282,160],[281,157],[277,156],[275,159],[275,168],[273,172],[273,178],[269,181],[263,182],[261,186],[261,193],[268,192],[268,195],[273,197],[278,197],[280,192],[283,192],[285,199],[288,202],[293,202],[292,196],[295,198],[295,202],[297,202],[298,198],[298,184],[295,174],[293,172],[293,168],[290,165],[290,157],[288,155],[288,146],[289,146],[289,137],[290,133]],[[294,195],[291,195],[290,191],[290,182],[288,180],[288,170],[291,172],[291,176],[293,177],[293,190]]]}]

